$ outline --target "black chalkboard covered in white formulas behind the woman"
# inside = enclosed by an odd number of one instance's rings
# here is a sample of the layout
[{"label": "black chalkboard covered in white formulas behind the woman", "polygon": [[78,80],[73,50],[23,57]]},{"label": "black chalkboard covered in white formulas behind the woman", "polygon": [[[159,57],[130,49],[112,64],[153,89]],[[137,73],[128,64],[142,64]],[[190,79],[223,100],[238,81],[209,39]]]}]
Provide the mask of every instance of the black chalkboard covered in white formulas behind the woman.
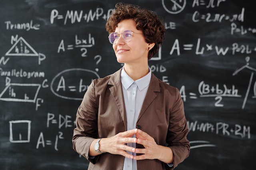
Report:
[{"label": "black chalkboard covered in white formulas behind the woman", "polygon": [[[94,78],[122,67],[105,29],[116,2],[1,0],[1,170],[87,169],[72,149],[76,109]],[[166,25],[149,66],[184,100],[191,152],[176,169],[254,169],[255,1],[123,2]]]}]

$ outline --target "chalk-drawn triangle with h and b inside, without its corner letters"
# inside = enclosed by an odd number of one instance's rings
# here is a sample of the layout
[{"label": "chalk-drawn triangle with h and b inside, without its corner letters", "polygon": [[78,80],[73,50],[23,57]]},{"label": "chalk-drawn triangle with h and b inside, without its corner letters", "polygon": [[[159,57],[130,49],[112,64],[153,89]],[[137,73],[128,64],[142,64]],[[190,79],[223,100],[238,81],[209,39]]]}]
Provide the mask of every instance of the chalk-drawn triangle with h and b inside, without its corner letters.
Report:
[{"label": "chalk-drawn triangle with h and b inside, without its corner letters", "polygon": [[5,54],[6,56],[38,56],[38,53],[20,37]]}]

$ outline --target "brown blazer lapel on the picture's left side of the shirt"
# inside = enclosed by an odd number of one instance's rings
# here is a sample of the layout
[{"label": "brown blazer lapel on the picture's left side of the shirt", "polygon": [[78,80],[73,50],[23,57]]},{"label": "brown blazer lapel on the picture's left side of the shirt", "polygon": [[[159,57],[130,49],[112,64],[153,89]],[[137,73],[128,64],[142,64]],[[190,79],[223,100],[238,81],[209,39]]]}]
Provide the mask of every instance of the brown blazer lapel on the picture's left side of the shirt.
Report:
[{"label": "brown blazer lapel on the picture's left side of the shirt", "polygon": [[123,90],[122,90],[121,70],[122,68],[117,72],[115,72],[114,74],[112,74],[108,84],[112,85],[112,87],[110,87],[109,90],[112,96],[114,97],[116,106],[118,107],[120,114],[122,116],[122,119],[124,121],[125,129],[127,130],[127,118],[126,118],[126,110],[125,110],[124,96],[123,96]]}]

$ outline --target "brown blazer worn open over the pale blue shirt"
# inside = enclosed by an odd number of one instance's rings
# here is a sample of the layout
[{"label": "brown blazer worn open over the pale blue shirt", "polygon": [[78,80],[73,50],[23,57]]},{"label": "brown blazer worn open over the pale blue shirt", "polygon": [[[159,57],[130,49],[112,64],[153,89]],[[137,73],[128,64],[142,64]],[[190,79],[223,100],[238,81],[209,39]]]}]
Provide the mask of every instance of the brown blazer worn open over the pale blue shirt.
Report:
[{"label": "brown blazer worn open over the pale blue shirt", "polygon": [[[90,161],[88,170],[123,170],[124,156],[104,153],[91,159],[88,155],[94,139],[112,137],[127,130],[121,69],[105,78],[93,80],[76,113],[73,148]],[[172,149],[172,168],[188,157],[188,126],[180,93],[154,74],[136,125],[140,125],[142,131],[153,137],[158,145]],[[137,161],[138,170],[165,170],[165,166],[157,159]]]}]

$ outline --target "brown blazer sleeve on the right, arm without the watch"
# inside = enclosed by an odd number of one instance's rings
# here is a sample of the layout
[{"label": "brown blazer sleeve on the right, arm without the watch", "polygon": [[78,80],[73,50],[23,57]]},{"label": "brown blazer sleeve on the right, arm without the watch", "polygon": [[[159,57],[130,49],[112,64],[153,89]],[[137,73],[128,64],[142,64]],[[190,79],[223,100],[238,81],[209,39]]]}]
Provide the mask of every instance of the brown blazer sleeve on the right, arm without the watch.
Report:
[{"label": "brown blazer sleeve on the right, arm without the watch", "polygon": [[176,88],[174,104],[170,109],[170,121],[166,143],[173,152],[173,167],[184,161],[190,152],[190,143],[187,139],[188,125],[184,113],[183,100]]}]

